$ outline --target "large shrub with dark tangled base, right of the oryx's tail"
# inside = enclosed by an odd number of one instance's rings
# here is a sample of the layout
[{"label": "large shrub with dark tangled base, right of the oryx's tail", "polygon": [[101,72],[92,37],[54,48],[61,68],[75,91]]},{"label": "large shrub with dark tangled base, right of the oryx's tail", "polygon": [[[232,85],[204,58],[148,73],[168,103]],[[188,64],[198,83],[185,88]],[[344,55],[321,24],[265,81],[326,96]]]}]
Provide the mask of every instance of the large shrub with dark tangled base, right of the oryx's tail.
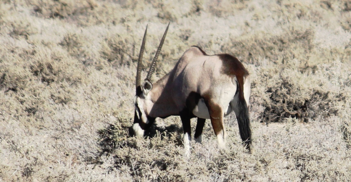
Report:
[{"label": "large shrub with dark tangled base, right of the oryx's tail", "polygon": [[[266,63],[251,85],[252,103],[264,108],[258,119],[269,123],[292,117],[309,122],[339,115],[349,97],[347,88],[340,89],[349,84],[349,76],[343,71],[347,63],[335,60],[335,69],[320,62],[309,59],[305,64],[296,60]],[[265,89],[261,89],[263,85]]]}]

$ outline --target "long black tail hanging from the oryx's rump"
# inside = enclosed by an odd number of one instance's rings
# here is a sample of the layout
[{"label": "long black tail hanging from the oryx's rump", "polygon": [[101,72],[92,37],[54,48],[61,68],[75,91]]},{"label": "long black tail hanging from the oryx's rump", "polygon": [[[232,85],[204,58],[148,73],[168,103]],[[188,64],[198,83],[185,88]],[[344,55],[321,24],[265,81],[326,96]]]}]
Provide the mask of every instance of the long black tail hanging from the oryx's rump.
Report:
[{"label": "long black tail hanging from the oryx's rump", "polygon": [[234,107],[235,115],[237,116],[239,133],[241,140],[245,143],[246,149],[251,153],[251,128],[249,119],[249,109],[244,97],[244,79],[238,78],[239,95],[237,107]]}]

